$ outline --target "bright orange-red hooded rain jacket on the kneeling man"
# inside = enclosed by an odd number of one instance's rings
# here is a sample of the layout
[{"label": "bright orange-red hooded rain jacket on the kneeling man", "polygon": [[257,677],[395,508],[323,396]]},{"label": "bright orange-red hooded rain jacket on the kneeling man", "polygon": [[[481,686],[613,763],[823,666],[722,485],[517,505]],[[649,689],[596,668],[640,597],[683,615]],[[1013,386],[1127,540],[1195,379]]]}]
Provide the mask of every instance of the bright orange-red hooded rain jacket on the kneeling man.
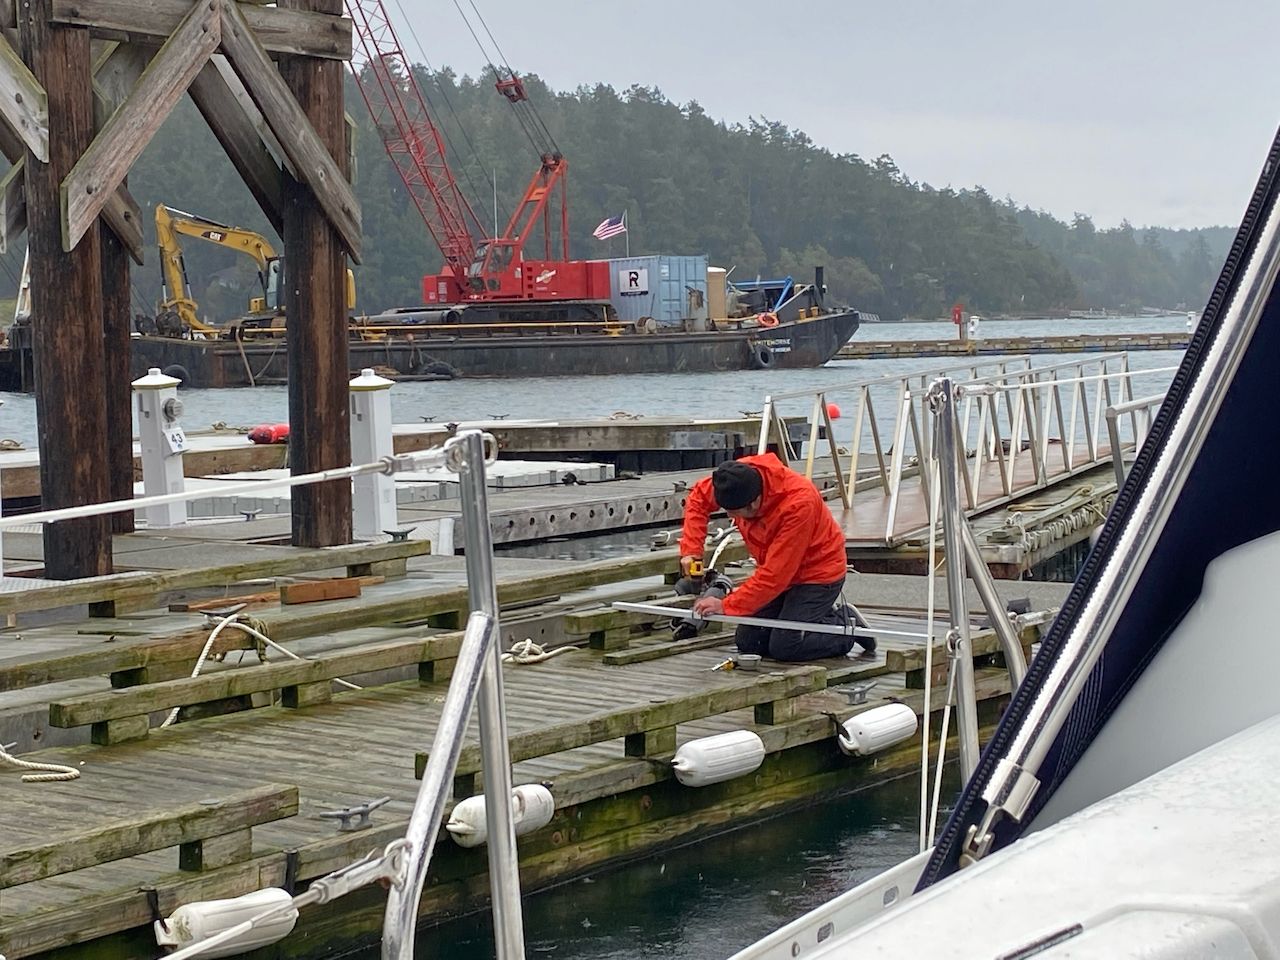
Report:
[{"label": "bright orange-red hooded rain jacket on the kneeling man", "polygon": [[[733,521],[755,573],[724,598],[724,612],[750,617],[796,584],[833,584],[849,572],[845,534],[812,480],[787,467],[772,453],[740,457],[760,471],[764,492],[760,512]],[[701,557],[707,521],[718,509],[712,479],[703,477],[685,502],[681,557]]]}]

